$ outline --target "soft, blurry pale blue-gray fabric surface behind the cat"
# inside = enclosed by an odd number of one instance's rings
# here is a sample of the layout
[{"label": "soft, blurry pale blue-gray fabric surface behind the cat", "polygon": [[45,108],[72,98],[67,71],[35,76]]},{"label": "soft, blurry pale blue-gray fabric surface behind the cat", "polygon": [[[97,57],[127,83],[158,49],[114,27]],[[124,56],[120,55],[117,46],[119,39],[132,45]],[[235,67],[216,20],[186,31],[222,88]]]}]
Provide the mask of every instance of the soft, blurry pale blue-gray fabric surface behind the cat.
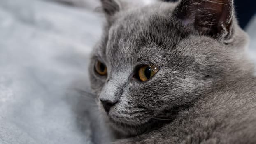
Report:
[{"label": "soft, blurry pale blue-gray fabric surface behind the cat", "polygon": [[[101,33],[97,5],[0,0],[0,144],[107,143],[95,101],[81,91]],[[256,19],[247,31],[256,62]]]}]

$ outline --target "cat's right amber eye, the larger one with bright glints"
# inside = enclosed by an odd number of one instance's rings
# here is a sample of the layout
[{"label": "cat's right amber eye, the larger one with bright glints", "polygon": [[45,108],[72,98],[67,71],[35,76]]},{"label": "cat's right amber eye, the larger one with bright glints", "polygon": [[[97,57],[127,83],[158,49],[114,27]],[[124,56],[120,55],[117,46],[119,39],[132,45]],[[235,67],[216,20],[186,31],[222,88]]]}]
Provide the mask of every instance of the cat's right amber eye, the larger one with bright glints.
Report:
[{"label": "cat's right amber eye, the larger one with bright glints", "polygon": [[148,79],[153,77],[156,74],[156,72],[158,72],[158,70],[158,67],[154,67],[151,65],[144,65],[140,67],[138,71],[140,81],[147,81]]}]

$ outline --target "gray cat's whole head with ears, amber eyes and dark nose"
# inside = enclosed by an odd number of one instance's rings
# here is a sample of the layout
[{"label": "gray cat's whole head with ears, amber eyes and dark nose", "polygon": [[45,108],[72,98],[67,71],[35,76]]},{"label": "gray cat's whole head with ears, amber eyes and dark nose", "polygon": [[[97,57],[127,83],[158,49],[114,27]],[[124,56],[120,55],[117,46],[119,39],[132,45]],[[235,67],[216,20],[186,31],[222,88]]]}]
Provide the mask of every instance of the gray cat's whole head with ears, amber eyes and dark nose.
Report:
[{"label": "gray cat's whole head with ears, amber eyes and dark nose", "polygon": [[107,19],[93,50],[91,87],[102,114],[124,135],[191,105],[221,79],[242,71],[247,35],[232,0],[101,0]]}]

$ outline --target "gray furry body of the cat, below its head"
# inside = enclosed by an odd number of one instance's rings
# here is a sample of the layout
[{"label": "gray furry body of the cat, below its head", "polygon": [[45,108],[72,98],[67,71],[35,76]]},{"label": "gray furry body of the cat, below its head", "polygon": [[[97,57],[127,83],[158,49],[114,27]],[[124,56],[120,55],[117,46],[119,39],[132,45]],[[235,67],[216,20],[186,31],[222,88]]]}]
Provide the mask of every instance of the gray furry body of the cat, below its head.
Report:
[{"label": "gray furry body of the cat, below its head", "polygon": [[[117,143],[255,144],[256,101],[251,90],[256,88],[256,79],[244,78],[230,81],[229,86],[197,100],[189,109],[180,111],[171,123]],[[243,90],[241,83],[246,87]]]}]

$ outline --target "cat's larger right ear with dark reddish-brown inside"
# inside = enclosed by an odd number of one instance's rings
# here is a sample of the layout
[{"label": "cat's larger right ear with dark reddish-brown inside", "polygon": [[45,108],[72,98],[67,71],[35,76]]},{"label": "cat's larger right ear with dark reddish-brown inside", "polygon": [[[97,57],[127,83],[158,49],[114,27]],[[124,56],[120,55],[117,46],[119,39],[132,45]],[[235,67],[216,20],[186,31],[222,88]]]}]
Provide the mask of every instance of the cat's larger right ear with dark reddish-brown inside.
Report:
[{"label": "cat's larger right ear with dark reddish-brown inside", "polygon": [[233,0],[181,0],[175,16],[201,35],[229,39],[233,27]]}]

